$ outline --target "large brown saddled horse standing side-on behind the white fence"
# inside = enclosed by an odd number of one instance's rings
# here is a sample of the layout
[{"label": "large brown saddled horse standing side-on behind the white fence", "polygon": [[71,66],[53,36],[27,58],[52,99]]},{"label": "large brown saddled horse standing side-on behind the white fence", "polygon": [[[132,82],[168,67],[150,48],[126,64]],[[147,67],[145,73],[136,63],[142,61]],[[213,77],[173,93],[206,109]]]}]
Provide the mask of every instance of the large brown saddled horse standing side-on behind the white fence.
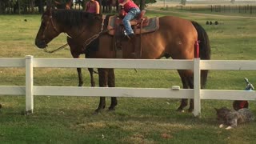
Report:
[{"label": "large brown saddled horse standing side-on behind the white fence", "polygon": [[[89,14],[77,10],[52,10],[47,6],[46,12],[42,14],[42,23],[35,38],[38,48],[45,48],[47,44],[60,33],[69,34],[77,38],[78,51],[84,52],[82,48],[85,43],[94,36],[99,38],[98,50],[90,51],[90,58],[115,58],[116,51],[113,50],[113,36],[102,30],[104,18],[102,15]],[[164,16],[159,18],[159,29],[147,34],[142,34],[141,58],[194,58],[194,43],[200,41],[200,58],[210,59],[210,44],[206,31],[197,22],[190,22],[183,18]],[[105,27],[105,26],[104,26]],[[133,43],[126,40],[126,48],[123,49],[123,58],[134,58]],[[178,70],[182,79],[184,89],[194,88],[193,70]],[[202,87],[206,85],[207,70],[202,70]],[[98,69],[99,86],[114,87],[114,69]],[[111,98],[109,110],[114,110],[118,104],[117,98]],[[104,109],[106,100],[100,98],[99,110]],[[187,106],[187,99],[182,99],[178,110]],[[189,111],[194,109],[193,100],[190,101]]]}]

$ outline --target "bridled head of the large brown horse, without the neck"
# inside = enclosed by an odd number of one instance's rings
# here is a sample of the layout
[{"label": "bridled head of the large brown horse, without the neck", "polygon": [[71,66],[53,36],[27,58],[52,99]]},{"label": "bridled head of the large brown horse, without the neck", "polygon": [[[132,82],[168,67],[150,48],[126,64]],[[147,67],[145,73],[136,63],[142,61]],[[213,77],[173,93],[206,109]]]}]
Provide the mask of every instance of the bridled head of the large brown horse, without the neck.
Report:
[{"label": "bridled head of the large brown horse, without the neck", "polygon": [[52,13],[54,8],[50,5],[46,6],[46,12],[42,14],[41,26],[35,38],[35,45],[38,48],[46,48],[47,44],[60,34],[59,26],[53,19]]}]

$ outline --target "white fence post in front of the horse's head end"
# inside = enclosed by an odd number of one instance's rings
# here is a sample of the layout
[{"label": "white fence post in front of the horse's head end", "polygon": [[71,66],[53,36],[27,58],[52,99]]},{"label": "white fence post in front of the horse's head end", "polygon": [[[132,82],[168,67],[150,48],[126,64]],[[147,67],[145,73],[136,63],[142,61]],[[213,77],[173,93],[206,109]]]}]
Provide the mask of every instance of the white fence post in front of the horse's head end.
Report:
[{"label": "white fence post in front of the horse's head end", "polygon": [[33,96],[33,56],[26,55],[26,114],[32,114],[34,109]]}]

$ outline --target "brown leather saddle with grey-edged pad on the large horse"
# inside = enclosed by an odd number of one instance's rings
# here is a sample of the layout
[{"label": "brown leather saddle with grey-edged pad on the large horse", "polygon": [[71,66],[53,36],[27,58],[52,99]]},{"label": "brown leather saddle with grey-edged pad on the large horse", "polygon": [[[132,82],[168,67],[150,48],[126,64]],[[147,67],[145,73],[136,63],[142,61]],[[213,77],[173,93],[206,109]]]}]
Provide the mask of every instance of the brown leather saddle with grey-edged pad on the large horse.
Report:
[{"label": "brown leather saddle with grey-edged pad on the large horse", "polygon": [[[142,34],[151,33],[159,28],[159,18],[147,18],[145,17],[146,10],[142,10],[136,19],[130,21],[130,24],[134,30],[135,37],[132,39],[127,39],[124,34],[124,26],[122,23],[122,14],[110,16],[108,18],[109,30],[108,34],[113,35],[114,46],[113,49],[116,51],[116,58],[122,58],[123,50],[134,47],[134,53],[132,53],[132,58],[141,58],[142,47],[141,39]],[[128,44],[128,45],[127,45]],[[130,46],[133,45],[133,46]]]}]

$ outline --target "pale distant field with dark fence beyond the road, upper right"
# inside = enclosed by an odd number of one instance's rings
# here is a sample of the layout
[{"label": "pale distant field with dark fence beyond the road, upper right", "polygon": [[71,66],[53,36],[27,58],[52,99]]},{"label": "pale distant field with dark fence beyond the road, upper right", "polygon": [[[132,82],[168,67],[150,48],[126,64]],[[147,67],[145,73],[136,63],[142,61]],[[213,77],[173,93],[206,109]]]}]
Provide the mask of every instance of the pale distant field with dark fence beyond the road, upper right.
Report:
[{"label": "pale distant field with dark fence beyond the road, upper right", "polygon": [[167,11],[203,13],[218,15],[240,15],[244,17],[256,17],[256,2],[235,1],[187,1],[185,6],[180,1],[162,0],[154,4],[149,4],[148,8],[161,9]]}]

